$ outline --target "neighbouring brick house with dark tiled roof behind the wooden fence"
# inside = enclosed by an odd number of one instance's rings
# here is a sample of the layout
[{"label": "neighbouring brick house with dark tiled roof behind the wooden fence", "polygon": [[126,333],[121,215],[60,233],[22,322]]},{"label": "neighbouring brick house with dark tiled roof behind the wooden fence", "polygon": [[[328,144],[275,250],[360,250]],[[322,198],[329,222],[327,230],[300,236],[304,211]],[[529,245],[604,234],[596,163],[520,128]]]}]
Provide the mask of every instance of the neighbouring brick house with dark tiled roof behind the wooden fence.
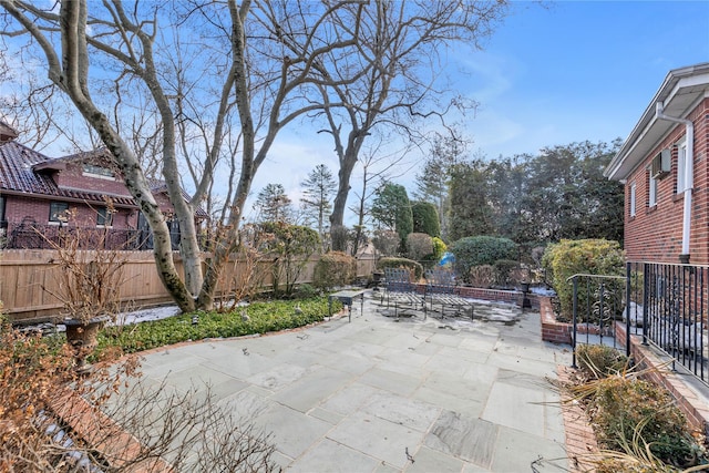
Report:
[{"label": "neighbouring brick house with dark tiled roof behind the wooden fence", "polygon": [[[75,225],[109,229],[114,245],[150,249],[147,223],[105,150],[50,158],[16,141],[0,122],[0,243],[6,248],[42,248],[72,210]],[[164,214],[173,212],[167,189],[155,182],[153,194]],[[187,197],[185,195],[185,197]],[[199,212],[204,218],[204,212]],[[175,222],[173,246],[178,244]],[[38,232],[39,230],[39,232]]]}]

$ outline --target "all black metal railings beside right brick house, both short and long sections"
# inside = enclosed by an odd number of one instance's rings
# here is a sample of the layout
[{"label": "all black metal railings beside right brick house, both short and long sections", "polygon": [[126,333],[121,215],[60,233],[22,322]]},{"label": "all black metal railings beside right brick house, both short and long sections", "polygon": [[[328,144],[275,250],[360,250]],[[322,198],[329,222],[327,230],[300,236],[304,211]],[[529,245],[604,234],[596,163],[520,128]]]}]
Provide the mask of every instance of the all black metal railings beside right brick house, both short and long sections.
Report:
[{"label": "all black metal railings beside right brick house, both short and long sections", "polygon": [[[574,364],[577,343],[625,347],[641,337],[709,383],[707,310],[709,268],[630,261],[626,276],[575,275],[573,286]],[[615,325],[627,323],[626,340],[616,340]]]}]

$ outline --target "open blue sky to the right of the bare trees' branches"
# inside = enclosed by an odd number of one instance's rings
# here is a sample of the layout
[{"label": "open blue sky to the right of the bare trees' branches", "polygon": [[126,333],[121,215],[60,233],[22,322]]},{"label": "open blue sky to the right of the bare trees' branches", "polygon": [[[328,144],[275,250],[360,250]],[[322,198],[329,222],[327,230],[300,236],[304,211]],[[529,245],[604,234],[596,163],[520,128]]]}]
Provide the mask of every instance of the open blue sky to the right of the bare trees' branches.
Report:
[{"label": "open blue sky to the right of the bare trees' branches", "polygon": [[[449,56],[454,86],[480,103],[464,127],[473,152],[496,158],[609,143],[625,140],[670,70],[709,61],[709,1],[514,2],[483,47]],[[297,202],[299,182],[319,163],[337,169],[331,142],[288,131],[254,194],[280,183]],[[394,181],[412,194],[417,171]]]}]

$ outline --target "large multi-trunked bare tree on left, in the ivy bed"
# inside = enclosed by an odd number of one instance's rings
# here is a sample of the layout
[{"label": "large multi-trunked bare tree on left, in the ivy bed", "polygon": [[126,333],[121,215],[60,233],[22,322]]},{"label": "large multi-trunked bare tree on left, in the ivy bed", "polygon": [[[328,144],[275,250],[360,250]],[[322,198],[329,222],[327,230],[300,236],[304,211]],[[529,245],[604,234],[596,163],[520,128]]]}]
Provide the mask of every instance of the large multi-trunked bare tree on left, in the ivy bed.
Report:
[{"label": "large multi-trunked bare tree on left, in the ivy bed", "polygon": [[[39,47],[51,83],[71,100],[112,153],[151,227],[157,270],[173,299],[183,310],[212,307],[222,267],[237,245],[256,172],[278,132],[320,106],[304,102],[306,85],[332,82],[314,74],[314,64],[357,43],[357,30],[331,38],[329,18],[345,7],[351,7],[348,11],[357,17],[361,2],[194,0],[136,1],[126,7],[121,0],[78,0],[61,2],[56,10],[56,6],[0,0],[0,7],[4,11],[2,34],[12,41],[23,38],[27,48]],[[295,45],[286,47],[286,37]],[[340,76],[336,84],[347,81]],[[138,97],[145,102],[136,104]],[[144,143],[161,145],[161,172],[179,224],[184,278],[175,267],[169,229],[151,193],[147,168],[138,158],[141,150],[132,143],[135,135],[115,120],[145,111],[154,114],[154,126],[142,128],[138,121],[133,130],[150,128]],[[198,122],[196,116],[204,120]],[[228,232],[223,233],[203,274],[195,212],[213,188],[219,156],[235,157],[224,151],[230,121],[240,136],[238,183],[225,202]],[[194,130],[203,131],[201,151],[188,135]],[[195,192],[186,200],[179,160],[192,162],[195,154],[201,157],[198,165],[189,167]]]}]

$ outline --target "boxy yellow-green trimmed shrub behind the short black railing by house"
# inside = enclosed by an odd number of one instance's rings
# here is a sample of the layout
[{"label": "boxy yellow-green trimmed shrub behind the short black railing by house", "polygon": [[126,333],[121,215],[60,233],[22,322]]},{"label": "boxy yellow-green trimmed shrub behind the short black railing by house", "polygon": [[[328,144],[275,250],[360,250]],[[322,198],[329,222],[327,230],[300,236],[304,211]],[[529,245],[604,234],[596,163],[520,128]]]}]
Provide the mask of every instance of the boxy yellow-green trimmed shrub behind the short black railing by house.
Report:
[{"label": "boxy yellow-green trimmed shrub behind the short black railing by house", "polygon": [[[573,315],[574,294],[568,278],[576,274],[616,275],[624,274],[624,255],[617,241],[605,239],[562,240],[546,248],[542,264],[549,276],[554,290],[558,295],[561,316],[571,319]],[[619,317],[624,285],[605,282],[605,307],[618,308]],[[592,282],[590,292],[598,291],[599,284]],[[579,291],[579,307],[585,307],[588,291]],[[596,315],[596,318],[600,317]],[[604,313],[605,316],[605,313]]]}]

